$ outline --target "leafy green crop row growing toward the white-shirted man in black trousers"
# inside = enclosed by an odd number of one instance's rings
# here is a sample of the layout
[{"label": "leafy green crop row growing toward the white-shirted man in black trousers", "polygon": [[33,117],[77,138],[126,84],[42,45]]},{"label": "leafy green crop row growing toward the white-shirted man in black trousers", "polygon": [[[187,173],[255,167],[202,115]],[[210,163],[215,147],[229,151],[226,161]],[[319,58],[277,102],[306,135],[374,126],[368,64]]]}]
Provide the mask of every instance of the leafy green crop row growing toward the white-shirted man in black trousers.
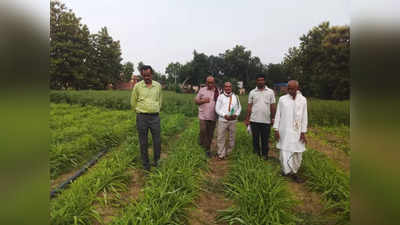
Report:
[{"label": "leafy green crop row growing toward the white-shirted man in black trousers", "polygon": [[251,138],[243,125],[237,127],[233,163],[225,183],[235,205],[221,210],[220,222],[229,224],[296,224],[295,201],[277,167],[252,154]]}]

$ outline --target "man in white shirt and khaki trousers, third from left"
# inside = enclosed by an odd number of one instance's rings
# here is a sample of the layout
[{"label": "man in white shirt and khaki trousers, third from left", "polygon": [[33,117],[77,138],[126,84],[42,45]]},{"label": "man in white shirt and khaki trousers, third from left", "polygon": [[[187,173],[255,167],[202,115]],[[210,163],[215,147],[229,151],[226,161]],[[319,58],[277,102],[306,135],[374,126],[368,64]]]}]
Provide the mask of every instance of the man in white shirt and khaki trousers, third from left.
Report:
[{"label": "man in white shirt and khaki trousers, third from left", "polygon": [[[232,84],[225,82],[224,91],[218,96],[215,105],[215,112],[218,115],[217,155],[219,160],[224,159],[227,154],[232,152],[235,145],[236,122],[241,110],[239,98],[232,92]],[[228,146],[225,145],[226,135],[229,137]]]}]

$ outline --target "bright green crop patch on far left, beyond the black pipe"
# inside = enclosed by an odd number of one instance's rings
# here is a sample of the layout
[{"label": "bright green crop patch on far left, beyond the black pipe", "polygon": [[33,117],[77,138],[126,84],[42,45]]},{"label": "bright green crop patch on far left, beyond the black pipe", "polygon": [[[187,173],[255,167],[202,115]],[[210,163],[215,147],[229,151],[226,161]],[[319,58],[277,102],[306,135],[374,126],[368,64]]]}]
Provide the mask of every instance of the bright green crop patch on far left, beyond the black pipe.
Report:
[{"label": "bright green crop patch on far left, beyond the black pipe", "polygon": [[50,176],[77,168],[101,150],[118,145],[134,124],[133,113],[127,111],[50,104]]}]

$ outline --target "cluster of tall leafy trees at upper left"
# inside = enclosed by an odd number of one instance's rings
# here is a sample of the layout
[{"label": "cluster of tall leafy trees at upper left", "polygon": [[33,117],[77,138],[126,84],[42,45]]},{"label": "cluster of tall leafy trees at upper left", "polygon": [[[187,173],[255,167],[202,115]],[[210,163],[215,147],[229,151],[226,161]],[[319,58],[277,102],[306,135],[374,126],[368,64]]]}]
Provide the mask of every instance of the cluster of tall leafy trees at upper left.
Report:
[{"label": "cluster of tall leafy trees at upper left", "polygon": [[50,1],[50,88],[105,89],[121,80],[121,49],[107,28],[90,34],[72,10]]}]

